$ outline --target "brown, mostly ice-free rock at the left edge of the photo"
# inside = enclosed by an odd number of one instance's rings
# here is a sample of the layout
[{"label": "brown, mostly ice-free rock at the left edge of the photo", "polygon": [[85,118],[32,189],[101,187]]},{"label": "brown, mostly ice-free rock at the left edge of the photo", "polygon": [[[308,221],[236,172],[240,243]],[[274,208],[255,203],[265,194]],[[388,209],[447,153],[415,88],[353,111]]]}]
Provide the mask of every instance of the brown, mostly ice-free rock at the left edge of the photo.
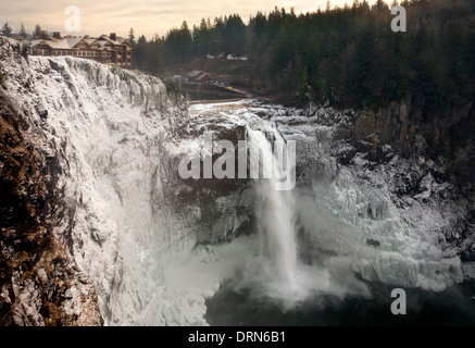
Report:
[{"label": "brown, mostly ice-free rock at the left edge of the photo", "polygon": [[[26,67],[17,45],[0,38],[0,47],[1,59]],[[0,87],[0,324],[101,325],[95,286],[60,241],[73,227],[61,149],[7,87]]]}]

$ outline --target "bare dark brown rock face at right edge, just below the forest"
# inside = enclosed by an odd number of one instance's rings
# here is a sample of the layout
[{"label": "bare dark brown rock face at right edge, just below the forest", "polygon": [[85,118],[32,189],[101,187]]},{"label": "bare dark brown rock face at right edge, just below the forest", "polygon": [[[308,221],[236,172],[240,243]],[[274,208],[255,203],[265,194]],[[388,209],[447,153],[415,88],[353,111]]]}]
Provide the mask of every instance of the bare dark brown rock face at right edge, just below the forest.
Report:
[{"label": "bare dark brown rock face at right edge, just below the forest", "polygon": [[370,152],[379,162],[387,161],[388,146],[405,158],[430,159],[443,167],[440,174],[445,178],[468,192],[475,181],[474,116],[473,102],[442,116],[430,116],[422,114],[408,99],[392,102],[376,113],[371,110],[359,113],[349,138],[359,150]]}]

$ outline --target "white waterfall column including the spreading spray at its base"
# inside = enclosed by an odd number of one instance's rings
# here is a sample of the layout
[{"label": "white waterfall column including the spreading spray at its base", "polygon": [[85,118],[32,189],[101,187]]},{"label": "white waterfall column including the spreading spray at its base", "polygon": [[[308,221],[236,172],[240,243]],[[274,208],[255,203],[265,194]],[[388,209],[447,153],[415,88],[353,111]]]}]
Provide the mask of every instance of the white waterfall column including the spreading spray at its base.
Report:
[{"label": "white waterfall column including the spreading spray at its base", "polygon": [[[343,294],[345,288],[330,284],[327,270],[299,260],[295,191],[278,189],[286,173],[293,172],[288,166],[295,165],[295,161],[289,161],[289,147],[284,146],[280,134],[275,128],[264,129],[261,132],[248,127],[259,254],[248,260],[233,286],[237,291],[250,290],[251,297],[275,299],[283,304],[283,309],[292,308],[329,289],[333,294]],[[267,139],[264,132],[268,132],[275,141]],[[260,156],[257,156],[257,151]]]}]

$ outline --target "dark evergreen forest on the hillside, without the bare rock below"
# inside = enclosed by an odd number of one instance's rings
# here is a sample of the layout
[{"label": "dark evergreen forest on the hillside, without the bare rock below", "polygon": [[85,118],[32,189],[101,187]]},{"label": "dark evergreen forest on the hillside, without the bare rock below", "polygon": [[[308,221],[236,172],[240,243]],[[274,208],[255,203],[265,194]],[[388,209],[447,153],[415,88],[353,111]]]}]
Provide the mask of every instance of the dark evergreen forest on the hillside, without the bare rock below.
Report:
[{"label": "dark evergreen forest on the hillside, without the bare rock below", "polygon": [[297,15],[275,8],[249,24],[237,14],[203,18],[199,26],[171,29],[166,37],[136,42],[136,65],[166,65],[205,54],[247,54],[253,77],[268,80],[285,103],[309,98],[340,107],[377,110],[413,99],[423,113],[441,115],[475,95],[475,2],[415,0],[405,33],[393,33],[389,7],[354,1],[352,7]]}]

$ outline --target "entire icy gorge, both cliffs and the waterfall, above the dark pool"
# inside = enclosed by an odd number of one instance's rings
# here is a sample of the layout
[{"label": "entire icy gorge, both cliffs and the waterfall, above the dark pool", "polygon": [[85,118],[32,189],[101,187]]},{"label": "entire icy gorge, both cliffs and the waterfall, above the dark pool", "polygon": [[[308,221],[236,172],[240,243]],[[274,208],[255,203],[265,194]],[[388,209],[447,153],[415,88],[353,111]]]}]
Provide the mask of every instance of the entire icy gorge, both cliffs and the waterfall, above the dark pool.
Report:
[{"label": "entire icy gorge, both cliffs and the waterfall, above the dark pool", "polygon": [[[411,156],[391,142],[411,132],[409,103],[189,105],[157,77],[25,59],[3,37],[0,70],[1,324],[205,325],[224,287],[292,313],[371,299],[372,284],[438,294],[474,281],[471,197],[423,138]],[[207,132],[271,166],[273,145],[296,141],[296,187],[180,177]]]}]

